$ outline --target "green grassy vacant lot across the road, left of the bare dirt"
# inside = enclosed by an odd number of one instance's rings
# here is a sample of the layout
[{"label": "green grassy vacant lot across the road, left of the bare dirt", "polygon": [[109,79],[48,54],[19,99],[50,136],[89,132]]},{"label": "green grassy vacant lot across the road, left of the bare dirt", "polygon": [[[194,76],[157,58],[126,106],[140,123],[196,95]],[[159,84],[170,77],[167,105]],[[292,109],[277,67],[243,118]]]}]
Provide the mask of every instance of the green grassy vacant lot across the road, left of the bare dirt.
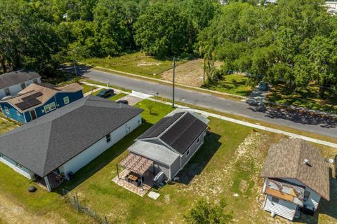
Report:
[{"label": "green grassy vacant lot across the road, left of the bare dirt", "polygon": [[[107,69],[115,69],[128,73],[135,73],[143,76],[159,78],[160,73],[171,69],[171,59],[160,59],[157,57],[146,56],[142,52],[133,52],[119,57],[91,58],[83,61],[85,64],[101,66]],[[181,60],[179,63],[185,62]],[[157,73],[156,76],[153,73]]]}]

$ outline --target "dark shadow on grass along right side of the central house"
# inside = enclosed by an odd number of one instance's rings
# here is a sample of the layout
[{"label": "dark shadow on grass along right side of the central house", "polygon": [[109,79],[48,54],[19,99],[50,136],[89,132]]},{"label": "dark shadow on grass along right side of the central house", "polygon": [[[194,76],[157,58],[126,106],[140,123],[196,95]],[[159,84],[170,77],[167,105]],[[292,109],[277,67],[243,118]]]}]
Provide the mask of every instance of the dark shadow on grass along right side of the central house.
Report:
[{"label": "dark shadow on grass along right side of the central house", "polygon": [[185,165],[177,176],[179,176],[179,182],[188,185],[194,176],[201,174],[209,160],[213,158],[213,155],[218,151],[221,146],[219,142],[220,135],[213,132],[207,132],[204,139],[204,144],[199,148],[197,153],[193,155],[191,160]]}]

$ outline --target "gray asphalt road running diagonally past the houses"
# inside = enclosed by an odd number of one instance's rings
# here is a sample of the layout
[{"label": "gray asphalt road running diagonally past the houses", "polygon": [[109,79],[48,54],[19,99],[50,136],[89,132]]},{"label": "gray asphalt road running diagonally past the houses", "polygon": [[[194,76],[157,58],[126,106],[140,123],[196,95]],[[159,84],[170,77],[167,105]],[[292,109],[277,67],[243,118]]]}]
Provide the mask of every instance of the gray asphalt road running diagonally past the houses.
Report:
[{"label": "gray asphalt road running diagonally past the houses", "polygon": [[[71,68],[68,71],[71,71]],[[101,83],[109,81],[111,85],[124,87],[128,90],[135,90],[147,94],[172,99],[172,87],[161,83],[152,83],[145,80],[120,76],[113,73],[97,71],[93,69],[77,69],[77,72],[85,78]],[[176,87],[176,101],[202,106],[216,111],[232,113],[238,116],[254,118],[267,123],[284,125],[298,130],[314,132],[329,137],[337,137],[337,120],[322,118],[309,113],[299,113],[297,111],[282,111],[280,109],[266,108],[265,106],[254,106],[247,102],[236,101],[216,97],[211,94],[194,92]]]}]

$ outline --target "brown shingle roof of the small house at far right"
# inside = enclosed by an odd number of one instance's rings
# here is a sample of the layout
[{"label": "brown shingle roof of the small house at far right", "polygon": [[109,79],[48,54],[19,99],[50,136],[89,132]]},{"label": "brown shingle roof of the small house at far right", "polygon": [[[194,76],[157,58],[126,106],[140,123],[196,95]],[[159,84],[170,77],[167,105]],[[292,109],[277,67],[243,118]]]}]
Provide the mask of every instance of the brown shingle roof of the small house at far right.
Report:
[{"label": "brown shingle roof of the small house at far right", "polygon": [[[305,165],[304,160],[309,160]],[[329,200],[329,168],[319,149],[301,139],[281,139],[270,146],[262,177],[296,179]]]}]

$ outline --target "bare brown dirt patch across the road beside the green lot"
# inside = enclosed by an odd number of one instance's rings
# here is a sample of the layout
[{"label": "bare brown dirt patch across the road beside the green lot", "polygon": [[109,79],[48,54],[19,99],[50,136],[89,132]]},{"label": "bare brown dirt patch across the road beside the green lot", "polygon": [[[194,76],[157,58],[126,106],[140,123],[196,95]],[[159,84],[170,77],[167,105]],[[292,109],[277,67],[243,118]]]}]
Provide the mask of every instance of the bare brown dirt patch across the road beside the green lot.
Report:
[{"label": "bare brown dirt patch across the road beside the green lot", "polygon": [[[220,66],[220,62],[216,63]],[[161,79],[172,80],[173,69],[161,73]],[[204,59],[194,59],[176,67],[176,82],[200,87],[204,76]]]}]

